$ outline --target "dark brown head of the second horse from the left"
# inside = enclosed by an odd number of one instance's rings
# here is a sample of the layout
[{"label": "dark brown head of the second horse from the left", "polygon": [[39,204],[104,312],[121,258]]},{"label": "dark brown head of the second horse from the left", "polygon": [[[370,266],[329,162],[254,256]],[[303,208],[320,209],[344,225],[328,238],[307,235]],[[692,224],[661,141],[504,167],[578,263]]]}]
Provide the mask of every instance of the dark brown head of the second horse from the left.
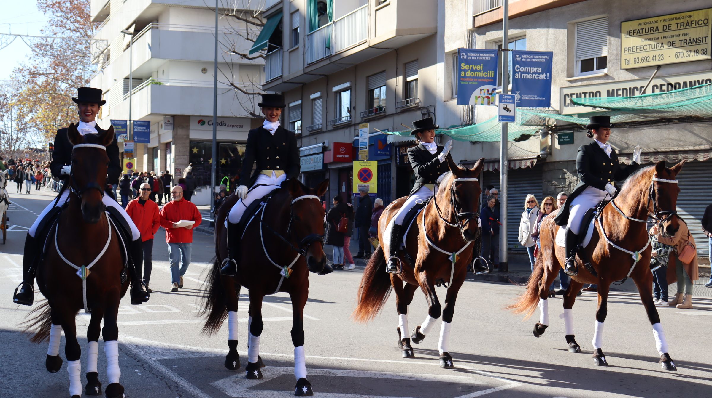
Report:
[{"label": "dark brown head of the second horse from the left", "polygon": [[320,197],[326,193],[328,186],[328,178],[316,188],[309,188],[296,179],[287,182],[287,189],[292,195],[290,230],[312,272],[323,271],[326,264],[323,241],[326,213]]}]

